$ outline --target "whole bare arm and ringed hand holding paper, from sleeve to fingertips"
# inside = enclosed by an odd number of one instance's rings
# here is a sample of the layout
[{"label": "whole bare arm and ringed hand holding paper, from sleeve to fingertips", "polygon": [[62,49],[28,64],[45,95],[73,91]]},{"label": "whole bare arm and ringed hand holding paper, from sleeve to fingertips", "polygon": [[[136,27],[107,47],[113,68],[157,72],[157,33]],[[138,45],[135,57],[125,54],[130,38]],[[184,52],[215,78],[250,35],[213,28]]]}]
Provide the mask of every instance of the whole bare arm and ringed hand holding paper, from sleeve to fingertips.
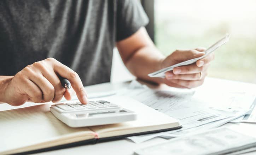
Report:
[{"label": "whole bare arm and ringed hand holding paper, from sleeve to fingertips", "polygon": [[[177,67],[173,71],[166,72],[164,79],[150,78],[147,74],[182,61],[198,58],[204,55],[203,51],[205,49],[177,49],[165,57],[155,47],[145,28],[140,28],[132,36],[117,42],[116,46],[124,64],[134,76],[146,81],[158,84],[165,83],[177,88],[194,88],[202,85],[207,75],[209,64],[214,60],[214,53],[211,53],[194,64]],[[200,72],[202,72],[202,78],[200,78]]]}]

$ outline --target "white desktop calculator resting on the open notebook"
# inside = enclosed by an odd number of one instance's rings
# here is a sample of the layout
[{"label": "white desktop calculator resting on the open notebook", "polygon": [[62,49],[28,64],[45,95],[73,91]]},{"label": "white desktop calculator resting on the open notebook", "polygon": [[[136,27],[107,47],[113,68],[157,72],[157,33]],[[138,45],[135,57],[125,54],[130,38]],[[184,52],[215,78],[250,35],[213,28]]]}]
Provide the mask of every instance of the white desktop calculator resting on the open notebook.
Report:
[{"label": "white desktop calculator resting on the open notebook", "polygon": [[70,127],[115,124],[137,118],[135,112],[105,100],[89,101],[87,105],[80,102],[57,103],[50,107],[50,111]]}]

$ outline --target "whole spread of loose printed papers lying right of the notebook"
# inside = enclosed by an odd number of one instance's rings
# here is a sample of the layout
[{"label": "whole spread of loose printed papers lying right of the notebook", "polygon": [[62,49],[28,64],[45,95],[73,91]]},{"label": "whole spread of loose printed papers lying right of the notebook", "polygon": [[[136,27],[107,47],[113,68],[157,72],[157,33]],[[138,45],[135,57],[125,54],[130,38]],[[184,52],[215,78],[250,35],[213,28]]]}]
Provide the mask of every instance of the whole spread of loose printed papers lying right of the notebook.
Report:
[{"label": "whole spread of loose printed papers lying right of the notebook", "polygon": [[[147,87],[127,89],[119,92],[128,95],[145,105],[180,120],[182,129],[151,135],[132,136],[128,139],[141,143],[154,137],[173,138],[194,131],[204,131],[219,127],[250,111],[252,97],[237,94],[197,93],[197,91],[156,91]],[[200,94],[200,95],[199,95]],[[208,95],[209,96],[208,96]],[[237,97],[235,97],[237,96]],[[214,102],[214,99],[216,102]],[[245,100],[248,99],[248,100]],[[222,101],[223,100],[223,101]],[[244,100],[245,102],[240,102]],[[213,102],[209,102],[213,101]],[[243,106],[246,105],[247,106]]]}]

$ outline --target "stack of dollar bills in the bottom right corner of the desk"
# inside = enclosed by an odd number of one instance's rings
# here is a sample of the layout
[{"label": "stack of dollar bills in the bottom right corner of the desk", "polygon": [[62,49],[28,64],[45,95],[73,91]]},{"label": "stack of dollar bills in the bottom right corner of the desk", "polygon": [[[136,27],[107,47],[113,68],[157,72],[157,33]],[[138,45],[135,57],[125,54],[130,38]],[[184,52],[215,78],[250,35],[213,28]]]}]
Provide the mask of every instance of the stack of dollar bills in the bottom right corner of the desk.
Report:
[{"label": "stack of dollar bills in the bottom right corner of the desk", "polygon": [[217,128],[135,150],[137,155],[220,155],[256,147],[256,138]]}]

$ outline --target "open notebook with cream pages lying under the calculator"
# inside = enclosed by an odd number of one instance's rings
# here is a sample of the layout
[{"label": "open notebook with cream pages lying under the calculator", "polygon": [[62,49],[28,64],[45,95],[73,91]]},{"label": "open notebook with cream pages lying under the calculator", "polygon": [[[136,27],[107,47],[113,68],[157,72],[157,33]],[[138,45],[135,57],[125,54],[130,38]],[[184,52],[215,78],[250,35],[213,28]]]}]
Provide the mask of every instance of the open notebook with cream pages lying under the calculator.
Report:
[{"label": "open notebook with cream pages lying under the calculator", "polygon": [[0,154],[66,148],[180,129],[178,120],[128,97],[104,98],[138,113],[138,119],[119,124],[71,128],[50,112],[52,103],[0,112]]}]

